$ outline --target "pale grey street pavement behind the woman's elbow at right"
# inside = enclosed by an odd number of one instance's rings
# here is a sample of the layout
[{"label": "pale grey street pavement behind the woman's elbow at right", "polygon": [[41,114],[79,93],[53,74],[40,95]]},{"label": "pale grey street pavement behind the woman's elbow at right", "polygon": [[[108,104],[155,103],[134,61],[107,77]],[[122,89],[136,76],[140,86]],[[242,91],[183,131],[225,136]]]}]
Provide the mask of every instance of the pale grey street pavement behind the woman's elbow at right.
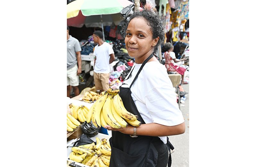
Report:
[{"label": "pale grey street pavement behind the woman's elbow at right", "polygon": [[[172,167],[188,167],[189,166],[189,84],[182,85],[187,99],[185,103],[181,103],[180,110],[185,120],[185,133],[175,136],[168,136],[170,142],[174,146],[171,151]],[[184,105],[184,106],[183,106]]]}]

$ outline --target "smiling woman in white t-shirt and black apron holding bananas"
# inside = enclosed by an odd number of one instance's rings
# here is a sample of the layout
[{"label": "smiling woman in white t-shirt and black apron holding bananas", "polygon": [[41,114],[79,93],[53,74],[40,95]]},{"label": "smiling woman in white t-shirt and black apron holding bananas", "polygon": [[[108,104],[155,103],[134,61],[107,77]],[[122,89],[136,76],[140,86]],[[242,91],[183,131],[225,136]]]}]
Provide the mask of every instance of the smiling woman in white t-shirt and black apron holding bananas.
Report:
[{"label": "smiling woman in white t-shirt and black apron holding bananas", "polygon": [[135,63],[119,95],[124,107],[138,115],[142,124],[119,129],[105,126],[112,130],[110,167],[166,167],[167,163],[171,166],[168,150],[174,147],[166,136],[185,132],[166,68],[153,56],[164,40],[163,23],[155,11],[146,5],[123,22],[125,46]]}]

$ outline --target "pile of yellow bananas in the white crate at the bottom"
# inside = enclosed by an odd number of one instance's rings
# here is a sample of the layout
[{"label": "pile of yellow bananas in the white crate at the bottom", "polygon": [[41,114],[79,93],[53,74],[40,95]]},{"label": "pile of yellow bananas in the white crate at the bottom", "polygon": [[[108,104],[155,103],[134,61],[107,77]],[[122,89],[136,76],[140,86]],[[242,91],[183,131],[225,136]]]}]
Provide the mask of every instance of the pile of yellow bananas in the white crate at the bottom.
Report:
[{"label": "pile of yellow bananas in the white crate at the bottom", "polygon": [[69,159],[91,167],[109,166],[111,156],[111,147],[106,138],[99,139],[96,137],[96,144],[81,145],[72,147]]}]

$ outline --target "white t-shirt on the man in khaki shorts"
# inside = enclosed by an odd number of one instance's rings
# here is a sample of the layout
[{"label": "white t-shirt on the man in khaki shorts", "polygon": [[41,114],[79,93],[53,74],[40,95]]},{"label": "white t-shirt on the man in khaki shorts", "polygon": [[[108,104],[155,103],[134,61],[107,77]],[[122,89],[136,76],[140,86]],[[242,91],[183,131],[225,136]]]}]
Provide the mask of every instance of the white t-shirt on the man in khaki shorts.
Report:
[{"label": "white t-shirt on the man in khaki shorts", "polygon": [[96,73],[109,73],[109,59],[111,54],[114,53],[112,46],[104,42],[102,45],[96,45],[93,54],[96,56],[94,72]]}]

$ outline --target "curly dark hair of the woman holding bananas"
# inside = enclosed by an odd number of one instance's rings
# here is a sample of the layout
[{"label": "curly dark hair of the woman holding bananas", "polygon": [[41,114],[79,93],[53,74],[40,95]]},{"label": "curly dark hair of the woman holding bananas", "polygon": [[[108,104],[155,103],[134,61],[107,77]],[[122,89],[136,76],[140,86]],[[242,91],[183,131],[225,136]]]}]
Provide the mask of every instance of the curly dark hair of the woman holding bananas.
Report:
[{"label": "curly dark hair of the woman holding bananas", "polygon": [[130,21],[136,17],[144,18],[148,21],[149,26],[151,27],[151,31],[153,34],[153,39],[157,38],[159,36],[158,43],[154,47],[153,54],[156,53],[158,45],[161,45],[164,42],[165,33],[164,33],[164,27],[163,27],[163,20],[160,19],[160,16],[158,15],[158,12],[155,12],[153,10],[144,9],[142,11],[137,11],[128,16],[126,20],[123,20],[120,22],[120,26],[122,27],[121,33],[125,37],[126,30],[128,27],[128,24]]}]

